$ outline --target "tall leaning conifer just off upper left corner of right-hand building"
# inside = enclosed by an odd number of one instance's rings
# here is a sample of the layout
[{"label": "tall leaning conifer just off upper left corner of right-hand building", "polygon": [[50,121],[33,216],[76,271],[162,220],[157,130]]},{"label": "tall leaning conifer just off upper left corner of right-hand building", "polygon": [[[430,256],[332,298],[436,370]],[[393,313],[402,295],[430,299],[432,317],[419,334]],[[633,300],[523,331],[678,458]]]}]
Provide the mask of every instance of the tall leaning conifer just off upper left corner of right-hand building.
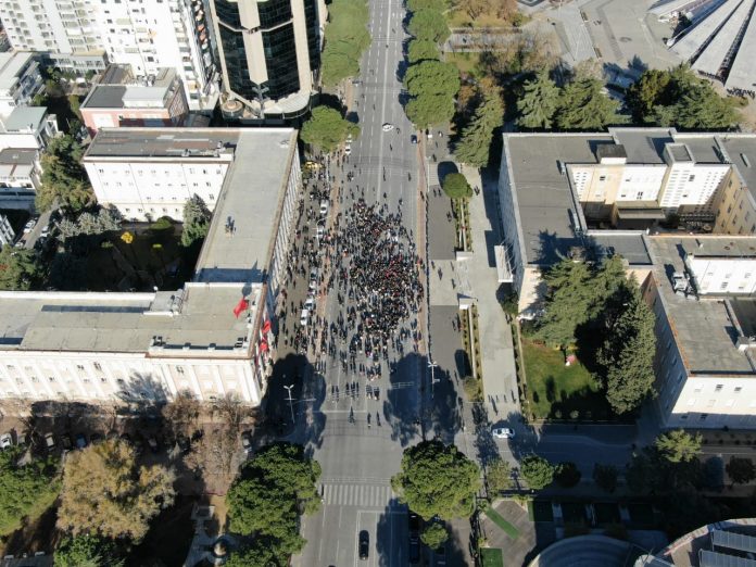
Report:
[{"label": "tall leaning conifer just off upper left corner of right-hand building", "polygon": [[475,111],[470,124],[462,130],[455,149],[457,160],[475,167],[483,167],[489,162],[489,150],[493,133],[504,124],[504,103],[501,92],[483,94],[483,101]]}]

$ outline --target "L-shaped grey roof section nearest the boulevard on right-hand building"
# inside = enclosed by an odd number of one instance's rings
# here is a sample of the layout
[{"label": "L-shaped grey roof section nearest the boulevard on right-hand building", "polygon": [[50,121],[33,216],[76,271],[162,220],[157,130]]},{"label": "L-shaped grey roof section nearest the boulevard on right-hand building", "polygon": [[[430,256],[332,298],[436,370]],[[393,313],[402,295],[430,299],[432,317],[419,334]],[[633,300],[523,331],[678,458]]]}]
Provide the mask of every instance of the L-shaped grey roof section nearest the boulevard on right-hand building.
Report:
[{"label": "L-shaped grey roof section nearest the boulevard on right-hand building", "polygon": [[581,212],[560,163],[596,163],[596,150],[613,144],[606,135],[534,134],[504,137],[509,178],[516,192],[525,261],[549,265],[578,245],[574,227]]}]

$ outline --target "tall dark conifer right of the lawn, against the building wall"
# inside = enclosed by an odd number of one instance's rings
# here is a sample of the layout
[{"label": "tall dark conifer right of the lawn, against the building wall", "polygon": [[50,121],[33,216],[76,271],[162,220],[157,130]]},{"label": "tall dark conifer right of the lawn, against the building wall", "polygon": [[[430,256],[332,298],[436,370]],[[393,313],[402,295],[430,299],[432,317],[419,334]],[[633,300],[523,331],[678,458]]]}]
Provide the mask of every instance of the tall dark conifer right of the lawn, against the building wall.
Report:
[{"label": "tall dark conifer right of the lawn, against the building wall", "polygon": [[630,297],[623,311],[607,329],[597,360],[606,370],[606,399],[612,408],[623,414],[635,410],[654,391],[656,317],[643,300],[638,282],[628,281]]}]

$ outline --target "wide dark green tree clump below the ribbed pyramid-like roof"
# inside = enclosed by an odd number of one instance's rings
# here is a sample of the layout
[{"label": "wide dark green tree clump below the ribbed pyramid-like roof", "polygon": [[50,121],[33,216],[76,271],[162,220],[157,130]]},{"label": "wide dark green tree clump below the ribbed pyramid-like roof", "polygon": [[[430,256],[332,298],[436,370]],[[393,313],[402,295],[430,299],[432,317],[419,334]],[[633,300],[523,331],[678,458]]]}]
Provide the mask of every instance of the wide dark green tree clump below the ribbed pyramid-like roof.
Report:
[{"label": "wide dark green tree clump below the ribbed pyramid-like roof", "polygon": [[628,89],[627,104],[637,122],[689,130],[720,130],[740,121],[735,101],[720,97],[688,64],[647,70]]}]

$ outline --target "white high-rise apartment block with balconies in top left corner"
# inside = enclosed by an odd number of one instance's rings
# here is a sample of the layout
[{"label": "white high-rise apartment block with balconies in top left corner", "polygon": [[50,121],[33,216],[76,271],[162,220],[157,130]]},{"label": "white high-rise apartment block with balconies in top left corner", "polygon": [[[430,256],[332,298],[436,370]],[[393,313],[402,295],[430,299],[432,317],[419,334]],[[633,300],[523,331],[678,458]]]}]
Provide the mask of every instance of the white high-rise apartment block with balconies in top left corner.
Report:
[{"label": "white high-rise apartment block with balconies in top left corner", "polygon": [[106,54],[146,79],[173,67],[190,110],[211,112],[217,103],[202,0],[2,1],[0,20],[14,49],[49,53],[55,65],[104,68]]}]

